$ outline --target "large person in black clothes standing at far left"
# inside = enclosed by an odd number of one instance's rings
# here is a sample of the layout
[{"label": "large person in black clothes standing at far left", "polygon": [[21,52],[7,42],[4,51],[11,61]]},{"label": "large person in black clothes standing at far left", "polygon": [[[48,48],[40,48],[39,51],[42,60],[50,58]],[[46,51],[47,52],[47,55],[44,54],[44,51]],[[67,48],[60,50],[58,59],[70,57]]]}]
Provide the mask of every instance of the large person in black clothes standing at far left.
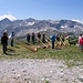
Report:
[{"label": "large person in black clothes standing at far left", "polygon": [[2,38],[1,38],[1,44],[3,46],[3,53],[7,54],[7,45],[8,45],[7,31],[3,33]]}]

